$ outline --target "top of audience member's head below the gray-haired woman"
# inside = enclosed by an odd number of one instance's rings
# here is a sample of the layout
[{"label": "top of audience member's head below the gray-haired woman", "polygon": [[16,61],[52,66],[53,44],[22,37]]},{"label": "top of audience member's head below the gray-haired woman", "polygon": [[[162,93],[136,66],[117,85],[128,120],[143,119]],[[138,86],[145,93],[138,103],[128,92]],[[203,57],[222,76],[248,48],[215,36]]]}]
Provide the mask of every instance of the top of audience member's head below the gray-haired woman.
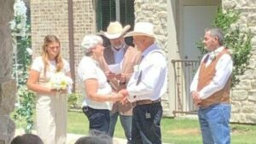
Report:
[{"label": "top of audience member's head below the gray-haired woman", "polygon": [[90,130],[89,136],[80,137],[75,144],[113,144],[112,138],[98,130]]}]

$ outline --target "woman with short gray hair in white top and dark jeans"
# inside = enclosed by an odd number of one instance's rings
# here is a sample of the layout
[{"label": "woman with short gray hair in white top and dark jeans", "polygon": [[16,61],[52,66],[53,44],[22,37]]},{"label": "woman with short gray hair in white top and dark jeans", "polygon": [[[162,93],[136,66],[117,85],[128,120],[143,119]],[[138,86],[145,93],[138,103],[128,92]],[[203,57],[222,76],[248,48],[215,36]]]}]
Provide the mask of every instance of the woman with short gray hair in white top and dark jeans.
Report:
[{"label": "woman with short gray hair in white top and dark jeans", "polygon": [[84,57],[79,62],[79,86],[84,95],[83,112],[90,121],[90,130],[108,133],[109,112],[113,101],[121,101],[124,95],[112,95],[112,89],[102,71],[102,37],[87,35],[82,43]]}]

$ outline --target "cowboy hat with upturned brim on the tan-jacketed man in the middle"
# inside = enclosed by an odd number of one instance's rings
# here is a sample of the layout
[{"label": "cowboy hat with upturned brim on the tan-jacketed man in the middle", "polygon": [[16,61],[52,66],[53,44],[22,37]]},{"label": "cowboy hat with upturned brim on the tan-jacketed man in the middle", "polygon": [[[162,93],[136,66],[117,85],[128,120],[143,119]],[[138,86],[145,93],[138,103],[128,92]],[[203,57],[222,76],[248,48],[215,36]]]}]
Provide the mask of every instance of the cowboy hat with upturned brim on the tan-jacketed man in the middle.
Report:
[{"label": "cowboy hat with upturned brim on the tan-jacketed man in the middle", "polygon": [[122,25],[118,21],[110,22],[107,28],[107,32],[101,33],[108,37],[108,39],[115,39],[118,37],[121,37],[131,28],[130,25],[127,25],[125,27],[122,27]]}]

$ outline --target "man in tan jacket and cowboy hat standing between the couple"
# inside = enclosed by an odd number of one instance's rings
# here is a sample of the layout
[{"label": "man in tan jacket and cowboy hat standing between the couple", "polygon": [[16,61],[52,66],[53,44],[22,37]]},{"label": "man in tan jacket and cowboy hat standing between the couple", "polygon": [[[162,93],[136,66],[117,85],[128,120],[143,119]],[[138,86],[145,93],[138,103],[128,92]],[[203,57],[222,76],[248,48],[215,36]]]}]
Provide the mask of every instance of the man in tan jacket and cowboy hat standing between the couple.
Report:
[{"label": "man in tan jacket and cowboy hat standing between the couple", "polygon": [[[131,78],[133,66],[135,66],[141,53],[125,43],[124,34],[131,26],[122,27],[118,21],[110,22],[107,32],[102,32],[105,37],[108,37],[110,45],[104,49],[104,57],[108,65],[116,64],[120,69],[120,73],[106,72],[109,83],[113,91],[118,92],[120,89],[125,89],[126,84]],[[122,104],[115,102],[110,115],[109,135],[113,136],[115,124],[120,118],[120,122],[125,130],[125,136],[128,143],[131,143],[131,121],[132,121],[132,106],[131,103]]]}]

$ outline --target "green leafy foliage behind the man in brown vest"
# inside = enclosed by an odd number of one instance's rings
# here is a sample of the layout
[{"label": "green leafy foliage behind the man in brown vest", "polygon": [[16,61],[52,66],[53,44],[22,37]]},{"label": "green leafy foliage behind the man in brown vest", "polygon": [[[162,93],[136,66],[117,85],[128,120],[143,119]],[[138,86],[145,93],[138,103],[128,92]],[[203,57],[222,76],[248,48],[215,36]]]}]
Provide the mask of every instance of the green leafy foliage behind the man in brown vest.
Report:
[{"label": "green leafy foliage behind the man in brown vest", "polygon": [[[236,9],[221,9],[218,8],[218,14],[213,22],[213,27],[221,28],[224,32],[224,45],[230,49],[232,59],[234,62],[232,73],[232,87],[240,82],[239,76],[244,74],[248,69],[250,52],[252,49],[251,40],[252,33],[250,31],[241,31],[240,27],[236,25],[240,17],[240,12]],[[201,54],[205,54],[206,50],[204,44],[197,42],[196,46],[200,49]]]}]

